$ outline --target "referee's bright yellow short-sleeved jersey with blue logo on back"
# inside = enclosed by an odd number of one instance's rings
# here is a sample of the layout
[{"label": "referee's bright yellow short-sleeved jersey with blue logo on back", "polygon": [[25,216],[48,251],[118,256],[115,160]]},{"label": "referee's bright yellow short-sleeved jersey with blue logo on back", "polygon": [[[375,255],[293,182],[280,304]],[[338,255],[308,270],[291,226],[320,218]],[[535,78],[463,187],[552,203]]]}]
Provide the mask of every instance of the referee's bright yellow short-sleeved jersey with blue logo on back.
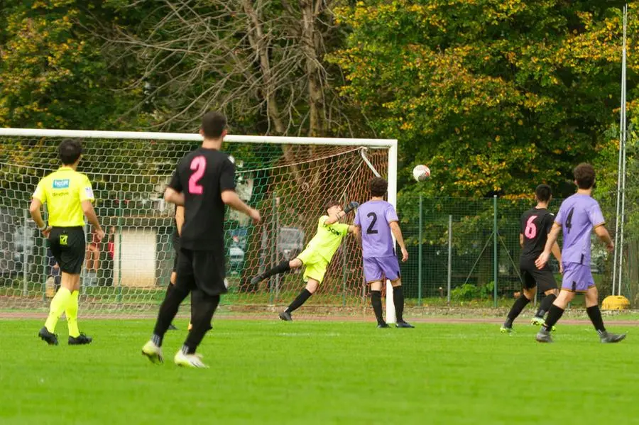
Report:
[{"label": "referee's bright yellow short-sleeved jersey with blue logo on back", "polygon": [[82,201],[94,200],[89,177],[71,167],[60,167],[40,180],[33,197],[48,204],[53,227],[84,226]]}]

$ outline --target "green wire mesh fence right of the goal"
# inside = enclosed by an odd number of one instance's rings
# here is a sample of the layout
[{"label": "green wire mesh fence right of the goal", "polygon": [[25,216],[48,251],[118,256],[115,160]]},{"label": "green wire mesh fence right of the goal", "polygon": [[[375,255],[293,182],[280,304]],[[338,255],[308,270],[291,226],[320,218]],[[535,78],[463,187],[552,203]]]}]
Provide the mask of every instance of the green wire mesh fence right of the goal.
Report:
[{"label": "green wire mesh fence right of the goal", "polygon": [[[616,197],[603,194],[595,198],[614,236]],[[561,202],[562,199],[553,199],[550,211],[556,213]],[[459,305],[483,300],[486,306],[497,306],[500,300],[512,299],[522,286],[520,216],[533,206],[535,202],[530,199],[400,197],[400,224],[409,252],[408,262],[401,264],[407,296],[415,299],[417,305]],[[630,211],[634,208],[630,204]],[[634,220],[635,214],[626,214],[621,294],[636,307],[639,239],[633,232]],[[613,255],[606,252],[596,236],[591,242],[591,270],[603,299],[611,294]],[[555,258],[550,265],[561,285]]]}]

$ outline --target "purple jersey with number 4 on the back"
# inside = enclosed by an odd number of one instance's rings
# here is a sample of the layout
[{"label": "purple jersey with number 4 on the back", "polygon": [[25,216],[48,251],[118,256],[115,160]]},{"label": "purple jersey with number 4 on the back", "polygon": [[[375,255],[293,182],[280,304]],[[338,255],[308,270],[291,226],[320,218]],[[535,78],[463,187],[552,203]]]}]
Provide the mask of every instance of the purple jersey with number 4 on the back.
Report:
[{"label": "purple jersey with number 4 on the back", "polygon": [[555,217],[564,232],[562,263],[590,265],[592,229],[605,222],[599,204],[588,195],[574,194],[565,199]]}]

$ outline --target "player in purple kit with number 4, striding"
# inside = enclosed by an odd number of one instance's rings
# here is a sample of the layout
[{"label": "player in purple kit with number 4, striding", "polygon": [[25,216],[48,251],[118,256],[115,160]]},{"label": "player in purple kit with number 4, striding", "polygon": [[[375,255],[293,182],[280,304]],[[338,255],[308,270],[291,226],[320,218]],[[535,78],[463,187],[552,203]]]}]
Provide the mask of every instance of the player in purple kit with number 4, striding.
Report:
[{"label": "player in purple kit with number 4, striding", "polygon": [[599,310],[598,293],[592,274],[590,272],[590,235],[593,231],[599,239],[606,244],[606,249],[614,249],[613,241],[603,226],[603,214],[597,203],[591,197],[592,187],[595,182],[595,171],[590,164],[579,164],[574,168],[574,183],[577,184],[577,193],[562,202],[559,213],[548,234],[548,240],[544,251],[535,261],[537,267],[542,270],[550,257],[550,248],[557,241],[559,231],[563,231],[564,248],[562,250],[562,262],[564,265],[564,278],[559,297],[552,303],[546,323],[537,333],[536,339],[540,343],[552,343],[550,330],[564,314],[569,302],[576,292],[586,294],[586,312],[602,343],[616,343],[626,338],[625,333],[609,333],[603,326],[601,311]]}]

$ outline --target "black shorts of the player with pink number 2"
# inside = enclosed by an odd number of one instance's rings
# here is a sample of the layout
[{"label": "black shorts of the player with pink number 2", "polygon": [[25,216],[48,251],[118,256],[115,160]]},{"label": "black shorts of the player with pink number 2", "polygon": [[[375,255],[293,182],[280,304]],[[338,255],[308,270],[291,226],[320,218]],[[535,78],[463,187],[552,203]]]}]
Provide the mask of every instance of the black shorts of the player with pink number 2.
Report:
[{"label": "black shorts of the player with pink number 2", "polygon": [[224,253],[180,249],[178,255],[178,280],[175,286],[192,291],[200,289],[207,295],[226,294],[226,270]]}]

